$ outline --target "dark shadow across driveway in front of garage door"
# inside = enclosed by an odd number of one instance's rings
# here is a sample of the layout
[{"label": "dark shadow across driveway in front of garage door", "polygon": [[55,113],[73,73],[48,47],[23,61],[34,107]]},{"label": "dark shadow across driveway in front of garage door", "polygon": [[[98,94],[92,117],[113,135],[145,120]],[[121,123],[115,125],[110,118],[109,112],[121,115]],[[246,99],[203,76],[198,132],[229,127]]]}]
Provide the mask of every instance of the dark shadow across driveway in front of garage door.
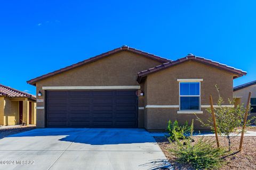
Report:
[{"label": "dark shadow across driveway in front of garage door", "polygon": [[145,129],[105,129],[105,128],[45,128],[10,135],[12,137],[63,136],[60,141],[85,143],[89,145],[115,145],[125,143],[156,142]]}]

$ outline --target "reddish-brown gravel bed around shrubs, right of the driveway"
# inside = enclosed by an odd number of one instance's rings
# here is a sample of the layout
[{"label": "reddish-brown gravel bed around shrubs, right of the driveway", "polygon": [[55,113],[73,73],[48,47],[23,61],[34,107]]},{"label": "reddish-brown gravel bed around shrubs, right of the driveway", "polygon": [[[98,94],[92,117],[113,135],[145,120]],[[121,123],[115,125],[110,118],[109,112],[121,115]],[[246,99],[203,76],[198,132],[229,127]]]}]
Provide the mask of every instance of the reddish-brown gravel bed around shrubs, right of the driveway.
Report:
[{"label": "reddish-brown gravel bed around shrubs, right of the driveway", "polygon": [[[200,137],[193,137],[197,141]],[[215,140],[215,137],[205,137],[207,139]],[[174,166],[174,169],[193,169],[189,165],[179,164],[175,161],[175,156],[168,150],[173,147],[165,137],[155,137],[159,147],[163,150],[169,162]],[[228,146],[226,137],[219,137],[220,145],[223,147]],[[256,169],[256,137],[244,137],[242,152],[236,152],[239,148],[240,137],[231,138],[231,154],[225,158],[226,164],[223,165],[221,170],[229,169]]]}]

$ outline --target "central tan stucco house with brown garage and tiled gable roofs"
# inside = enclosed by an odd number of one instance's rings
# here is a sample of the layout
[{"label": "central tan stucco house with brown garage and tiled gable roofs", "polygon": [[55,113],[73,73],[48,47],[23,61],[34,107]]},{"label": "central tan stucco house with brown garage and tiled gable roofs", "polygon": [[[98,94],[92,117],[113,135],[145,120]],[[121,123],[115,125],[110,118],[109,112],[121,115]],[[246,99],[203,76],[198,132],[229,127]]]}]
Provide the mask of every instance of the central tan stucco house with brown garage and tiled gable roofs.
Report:
[{"label": "central tan stucco house with brown garage and tiled gable roofs", "polygon": [[228,105],[233,79],[245,74],[191,54],[171,61],[123,46],[27,82],[42,99],[39,128],[163,130],[168,120],[207,118],[209,95],[218,99],[215,84]]}]

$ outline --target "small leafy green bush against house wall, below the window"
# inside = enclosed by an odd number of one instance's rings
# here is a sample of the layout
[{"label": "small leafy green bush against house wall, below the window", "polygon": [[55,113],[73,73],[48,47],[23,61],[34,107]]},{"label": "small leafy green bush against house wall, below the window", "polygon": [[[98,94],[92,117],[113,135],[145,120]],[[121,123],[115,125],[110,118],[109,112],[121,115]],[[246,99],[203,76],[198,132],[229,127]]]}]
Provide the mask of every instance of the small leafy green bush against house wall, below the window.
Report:
[{"label": "small leafy green bush against house wall, below the window", "polygon": [[173,123],[169,120],[167,125],[167,131],[170,135],[168,139],[171,141],[175,141],[178,139],[186,139],[185,134],[189,133],[190,126],[188,125],[187,121],[185,122],[184,125],[179,125],[177,120]]}]

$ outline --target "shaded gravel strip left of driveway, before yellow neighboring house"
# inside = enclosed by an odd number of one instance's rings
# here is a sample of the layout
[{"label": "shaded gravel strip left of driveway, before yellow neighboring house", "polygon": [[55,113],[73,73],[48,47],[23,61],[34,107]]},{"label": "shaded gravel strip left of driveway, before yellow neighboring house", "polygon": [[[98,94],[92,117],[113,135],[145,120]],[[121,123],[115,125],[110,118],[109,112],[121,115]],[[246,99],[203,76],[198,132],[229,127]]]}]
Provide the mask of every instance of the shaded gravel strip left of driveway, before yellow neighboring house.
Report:
[{"label": "shaded gravel strip left of driveway, before yellow neighboring house", "polygon": [[30,131],[36,129],[36,126],[17,126],[15,128],[9,128],[9,129],[0,129],[0,139],[5,138],[9,135]]}]

